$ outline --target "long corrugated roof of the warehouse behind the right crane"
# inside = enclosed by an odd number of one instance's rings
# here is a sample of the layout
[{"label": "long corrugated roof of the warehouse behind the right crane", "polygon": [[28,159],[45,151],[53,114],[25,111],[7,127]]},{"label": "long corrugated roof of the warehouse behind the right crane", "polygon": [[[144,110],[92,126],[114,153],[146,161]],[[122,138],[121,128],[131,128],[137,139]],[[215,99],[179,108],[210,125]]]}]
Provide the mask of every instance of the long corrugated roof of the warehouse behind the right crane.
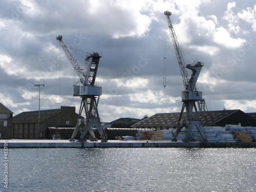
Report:
[{"label": "long corrugated roof of the warehouse behind the right crane", "polygon": [[[198,115],[203,126],[210,126],[237,111],[239,110],[203,111],[198,112]],[[180,113],[157,113],[132,125],[132,127],[173,126],[178,123],[179,117]],[[196,112],[193,112],[193,117],[196,118]],[[187,115],[183,113],[181,120],[186,119]]]}]

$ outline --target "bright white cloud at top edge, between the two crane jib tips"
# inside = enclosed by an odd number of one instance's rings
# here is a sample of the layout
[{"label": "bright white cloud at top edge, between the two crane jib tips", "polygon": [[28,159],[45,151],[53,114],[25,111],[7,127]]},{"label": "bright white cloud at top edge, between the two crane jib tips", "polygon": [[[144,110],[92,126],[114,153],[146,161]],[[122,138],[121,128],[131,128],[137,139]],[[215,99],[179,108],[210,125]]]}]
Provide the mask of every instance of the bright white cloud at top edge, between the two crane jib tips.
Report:
[{"label": "bright white cloud at top edge, between the two crane jib tips", "polygon": [[[113,38],[144,36],[156,17],[141,11],[147,1],[91,1],[89,16],[95,17],[91,27],[109,33]],[[102,7],[104,7],[102,9]],[[118,15],[118,16],[117,16]]]}]

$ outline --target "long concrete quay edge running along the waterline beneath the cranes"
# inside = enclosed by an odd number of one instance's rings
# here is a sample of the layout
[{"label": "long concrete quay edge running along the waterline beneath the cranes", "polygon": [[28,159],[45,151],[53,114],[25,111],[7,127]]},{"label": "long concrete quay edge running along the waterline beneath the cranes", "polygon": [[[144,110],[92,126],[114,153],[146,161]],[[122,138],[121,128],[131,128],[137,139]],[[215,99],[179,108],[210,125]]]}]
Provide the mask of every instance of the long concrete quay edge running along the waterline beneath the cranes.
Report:
[{"label": "long concrete quay edge running along the waterline beneath the cranes", "polygon": [[201,147],[201,148],[226,148],[226,147],[256,147],[256,143],[219,142],[200,143],[170,140],[109,140],[108,142],[70,142],[68,140],[0,140],[0,148],[111,148],[111,147]]}]

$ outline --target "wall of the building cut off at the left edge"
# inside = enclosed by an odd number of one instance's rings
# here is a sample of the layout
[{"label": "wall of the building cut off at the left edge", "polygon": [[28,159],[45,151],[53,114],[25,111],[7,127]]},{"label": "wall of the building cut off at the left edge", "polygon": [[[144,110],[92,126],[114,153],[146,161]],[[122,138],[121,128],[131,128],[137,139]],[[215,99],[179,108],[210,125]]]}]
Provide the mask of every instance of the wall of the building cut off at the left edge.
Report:
[{"label": "wall of the building cut off at the left edge", "polygon": [[0,139],[12,139],[12,114],[1,114]]}]

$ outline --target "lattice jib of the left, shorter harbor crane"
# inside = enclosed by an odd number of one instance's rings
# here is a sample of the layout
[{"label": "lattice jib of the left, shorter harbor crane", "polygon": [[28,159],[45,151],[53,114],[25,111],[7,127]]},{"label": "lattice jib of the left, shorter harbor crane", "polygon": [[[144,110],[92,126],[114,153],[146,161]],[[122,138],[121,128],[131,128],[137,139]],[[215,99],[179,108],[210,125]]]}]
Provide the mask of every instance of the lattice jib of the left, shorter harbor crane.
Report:
[{"label": "lattice jib of the left, shorter harbor crane", "polygon": [[78,60],[75,58],[75,56],[72,54],[72,52],[69,50],[68,46],[65,44],[65,42],[62,40],[62,35],[59,35],[56,37],[56,39],[60,42],[63,50],[65,51],[66,55],[68,56],[73,68],[75,69],[81,83],[83,86],[87,86],[86,82],[86,73],[81,68]]}]

